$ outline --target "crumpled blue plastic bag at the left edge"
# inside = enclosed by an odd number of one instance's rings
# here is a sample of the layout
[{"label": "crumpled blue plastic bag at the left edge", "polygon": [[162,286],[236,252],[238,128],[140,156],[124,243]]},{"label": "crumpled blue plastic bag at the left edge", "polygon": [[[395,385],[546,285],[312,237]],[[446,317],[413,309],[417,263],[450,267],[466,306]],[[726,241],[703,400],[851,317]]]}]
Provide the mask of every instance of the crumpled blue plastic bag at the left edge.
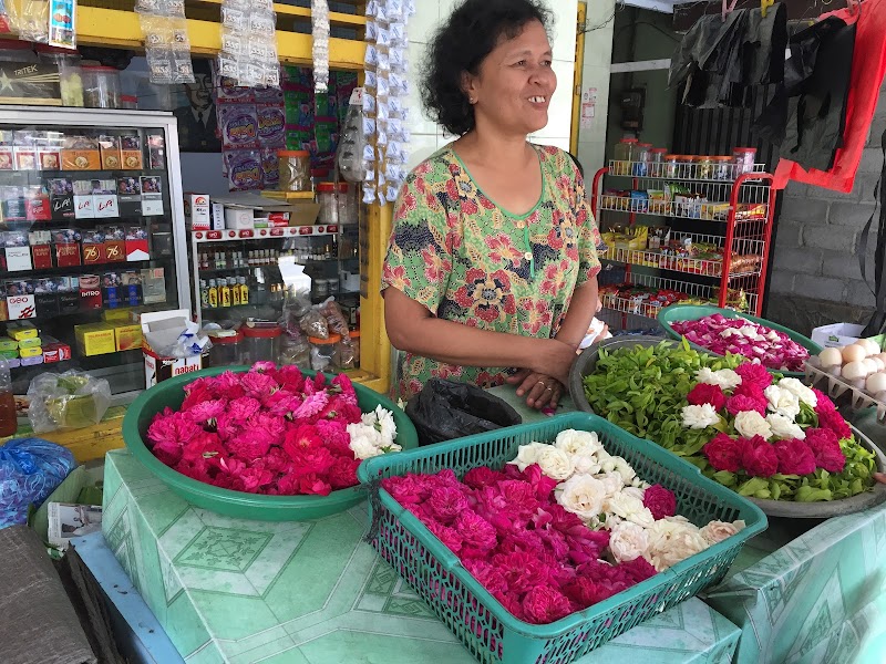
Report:
[{"label": "crumpled blue plastic bag at the left edge", "polygon": [[0,528],[25,523],[76,463],[71,450],[42,438],[14,438],[0,446]]}]

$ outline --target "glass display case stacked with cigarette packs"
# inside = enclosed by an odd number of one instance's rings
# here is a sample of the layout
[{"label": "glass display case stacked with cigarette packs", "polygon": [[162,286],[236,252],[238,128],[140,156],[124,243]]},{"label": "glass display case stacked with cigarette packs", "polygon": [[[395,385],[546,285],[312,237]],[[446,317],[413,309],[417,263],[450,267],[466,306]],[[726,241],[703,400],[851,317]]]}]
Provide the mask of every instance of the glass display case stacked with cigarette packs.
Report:
[{"label": "glass display case stacked with cigarette packs", "polygon": [[145,387],[133,310],[190,307],[175,118],[0,108],[0,354]]}]

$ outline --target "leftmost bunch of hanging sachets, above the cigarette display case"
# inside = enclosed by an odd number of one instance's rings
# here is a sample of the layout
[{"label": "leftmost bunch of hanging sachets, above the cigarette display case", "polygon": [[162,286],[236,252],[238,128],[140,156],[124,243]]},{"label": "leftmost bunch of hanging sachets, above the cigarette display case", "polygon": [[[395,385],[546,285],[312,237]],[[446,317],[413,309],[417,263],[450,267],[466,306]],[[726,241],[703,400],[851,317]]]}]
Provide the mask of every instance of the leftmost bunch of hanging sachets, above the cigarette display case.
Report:
[{"label": "leftmost bunch of hanging sachets, above the cigarette display case", "polygon": [[184,0],[136,0],[151,82],[194,83]]}]

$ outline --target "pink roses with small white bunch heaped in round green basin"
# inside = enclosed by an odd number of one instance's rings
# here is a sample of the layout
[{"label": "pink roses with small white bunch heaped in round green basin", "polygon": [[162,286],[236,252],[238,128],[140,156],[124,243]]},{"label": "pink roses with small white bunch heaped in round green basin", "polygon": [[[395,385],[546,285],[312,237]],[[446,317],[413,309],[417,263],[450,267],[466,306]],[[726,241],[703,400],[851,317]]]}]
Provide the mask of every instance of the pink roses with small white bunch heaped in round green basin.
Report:
[{"label": "pink roses with small white bunch heaped in round green basin", "polygon": [[310,378],[270,362],[195,380],[181,408],[165,408],[147,429],[154,456],[178,473],[275,496],[353,487],[361,459],[399,450],[395,437],[389,411],[361,413],[348,376]]}]

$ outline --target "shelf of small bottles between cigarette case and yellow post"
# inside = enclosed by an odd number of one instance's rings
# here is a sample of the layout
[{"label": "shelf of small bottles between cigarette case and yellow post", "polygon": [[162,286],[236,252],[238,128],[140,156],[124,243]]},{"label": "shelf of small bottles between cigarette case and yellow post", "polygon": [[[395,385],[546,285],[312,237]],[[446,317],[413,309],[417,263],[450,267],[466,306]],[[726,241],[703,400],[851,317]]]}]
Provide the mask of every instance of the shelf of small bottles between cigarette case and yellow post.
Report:
[{"label": "shelf of small bottles between cigarette case and yellow post", "polygon": [[334,297],[356,324],[360,300],[358,226],[318,225],[194,231],[199,320],[277,320],[287,277],[311,278],[311,300]]}]

